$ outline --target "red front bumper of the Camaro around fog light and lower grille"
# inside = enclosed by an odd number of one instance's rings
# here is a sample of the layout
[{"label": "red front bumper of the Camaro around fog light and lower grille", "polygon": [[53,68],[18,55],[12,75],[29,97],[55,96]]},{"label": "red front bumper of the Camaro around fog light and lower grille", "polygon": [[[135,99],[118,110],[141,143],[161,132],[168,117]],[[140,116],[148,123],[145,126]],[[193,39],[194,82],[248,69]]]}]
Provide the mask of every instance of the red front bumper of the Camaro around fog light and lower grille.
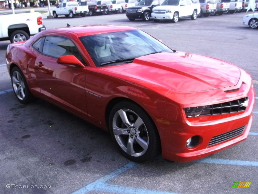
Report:
[{"label": "red front bumper of the Camaro around fog light and lower grille", "polygon": [[[248,99],[249,105],[242,113],[203,116],[198,122],[195,118],[186,118],[185,122],[173,121],[167,126],[166,124],[163,124],[163,127],[159,126],[163,158],[175,162],[188,162],[219,152],[245,140],[253,120],[252,111],[255,102],[253,87],[250,88]],[[211,117],[212,120],[209,120],[208,118]],[[241,134],[223,139],[217,144],[208,145],[216,136],[231,134],[243,126],[244,130]],[[199,141],[195,147],[187,148],[186,141],[193,136],[198,136]]]}]

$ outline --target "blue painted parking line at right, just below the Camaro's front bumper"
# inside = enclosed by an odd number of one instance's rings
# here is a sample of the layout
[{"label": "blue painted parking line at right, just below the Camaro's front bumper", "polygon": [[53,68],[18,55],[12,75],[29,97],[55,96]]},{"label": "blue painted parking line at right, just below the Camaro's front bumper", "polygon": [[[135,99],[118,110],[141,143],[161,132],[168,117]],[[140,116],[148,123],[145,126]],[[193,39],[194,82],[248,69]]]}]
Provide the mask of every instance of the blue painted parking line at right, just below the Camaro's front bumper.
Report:
[{"label": "blue painted parking line at right, just below the Camaro's front bumper", "polygon": [[257,161],[204,158],[204,159],[196,160],[194,162],[211,163],[211,164],[222,164],[222,165],[237,165],[237,166],[253,166],[253,167],[258,167],[258,162]]}]

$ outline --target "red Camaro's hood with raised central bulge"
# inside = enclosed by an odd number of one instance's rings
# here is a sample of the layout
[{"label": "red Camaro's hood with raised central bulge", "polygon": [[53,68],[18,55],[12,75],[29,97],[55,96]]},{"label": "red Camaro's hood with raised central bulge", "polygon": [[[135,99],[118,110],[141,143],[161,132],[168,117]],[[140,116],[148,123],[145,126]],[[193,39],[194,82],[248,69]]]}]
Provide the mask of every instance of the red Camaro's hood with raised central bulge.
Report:
[{"label": "red Camaro's hood with raised central bulge", "polygon": [[158,85],[179,92],[235,86],[240,78],[240,69],[235,65],[184,52],[146,55],[107,70],[126,76],[128,81],[145,83],[147,87]]}]

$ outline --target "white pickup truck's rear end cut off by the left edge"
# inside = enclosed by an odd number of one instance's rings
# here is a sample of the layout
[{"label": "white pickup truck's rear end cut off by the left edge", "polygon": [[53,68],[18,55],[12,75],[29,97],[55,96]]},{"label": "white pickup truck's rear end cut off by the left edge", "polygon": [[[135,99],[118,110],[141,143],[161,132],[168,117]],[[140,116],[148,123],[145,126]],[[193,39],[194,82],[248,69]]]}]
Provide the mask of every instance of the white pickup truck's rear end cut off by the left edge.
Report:
[{"label": "white pickup truck's rear end cut off by the left edge", "polygon": [[31,35],[46,29],[41,13],[18,13],[0,16],[0,40],[26,41]]}]

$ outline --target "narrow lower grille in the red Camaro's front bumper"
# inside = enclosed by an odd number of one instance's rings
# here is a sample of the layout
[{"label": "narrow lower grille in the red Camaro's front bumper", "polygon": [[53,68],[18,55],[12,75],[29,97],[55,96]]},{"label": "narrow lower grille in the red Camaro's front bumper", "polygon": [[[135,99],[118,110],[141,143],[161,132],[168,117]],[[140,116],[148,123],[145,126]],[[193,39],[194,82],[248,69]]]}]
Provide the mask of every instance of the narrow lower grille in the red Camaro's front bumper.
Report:
[{"label": "narrow lower grille in the red Camaro's front bumper", "polygon": [[235,129],[233,131],[229,131],[227,133],[223,133],[221,135],[217,135],[217,136],[215,136],[211,139],[211,141],[208,143],[208,146],[219,144],[223,141],[227,141],[227,140],[232,139],[232,138],[234,138],[238,135],[241,135],[243,133],[244,129],[245,129],[245,126],[240,127],[238,129]]}]

